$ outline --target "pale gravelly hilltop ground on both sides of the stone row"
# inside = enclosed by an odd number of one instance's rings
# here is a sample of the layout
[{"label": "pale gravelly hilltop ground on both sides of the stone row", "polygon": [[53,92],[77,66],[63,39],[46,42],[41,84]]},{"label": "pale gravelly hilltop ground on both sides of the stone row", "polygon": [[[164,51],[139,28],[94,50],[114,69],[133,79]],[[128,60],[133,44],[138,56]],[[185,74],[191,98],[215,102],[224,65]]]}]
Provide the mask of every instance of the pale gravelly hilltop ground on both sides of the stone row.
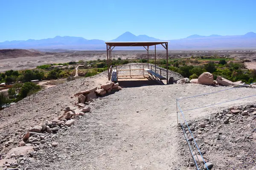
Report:
[{"label": "pale gravelly hilltop ground on both sides of the stone row", "polygon": [[[224,90],[227,87],[176,84],[113,91],[89,102],[91,111],[84,116],[76,116],[75,125],[59,126],[57,133],[35,133],[31,136],[29,140],[41,144],[33,143],[28,155],[23,153],[5,155],[11,148],[18,146],[23,134],[31,127],[59,117],[64,113],[64,108],[74,105],[77,101],[74,94],[104,84],[106,80],[106,72],[103,72],[94,77],[65,82],[26,97],[10,108],[0,111],[1,159],[10,157],[7,163],[3,162],[5,165],[1,168],[9,168],[9,170],[13,170],[10,168],[21,170],[190,168],[184,164],[183,152],[180,151],[183,148],[179,145],[182,134],[177,128],[175,99]],[[234,88],[197,100],[186,99],[186,102],[180,102],[180,105],[188,109],[207,105],[212,101],[220,102],[236,96],[247,96],[247,94],[256,94],[256,89]],[[219,107],[226,108],[255,100],[248,98],[225,103]],[[198,119],[204,115],[209,116],[212,111],[216,111],[216,108],[210,107],[207,111],[199,109],[198,112],[191,115],[188,113],[187,116]],[[230,165],[226,164],[226,166]]]}]

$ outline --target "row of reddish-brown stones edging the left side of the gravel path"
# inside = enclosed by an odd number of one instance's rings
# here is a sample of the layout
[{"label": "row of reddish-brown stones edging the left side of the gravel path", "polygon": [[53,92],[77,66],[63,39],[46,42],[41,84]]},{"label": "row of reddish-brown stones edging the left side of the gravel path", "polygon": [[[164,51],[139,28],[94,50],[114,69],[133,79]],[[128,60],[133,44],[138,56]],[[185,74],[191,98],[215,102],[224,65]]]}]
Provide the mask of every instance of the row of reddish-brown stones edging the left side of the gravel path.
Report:
[{"label": "row of reddish-brown stones edging the left side of the gravel path", "polygon": [[[118,83],[109,82],[101,85],[99,89],[95,87],[75,94],[78,96],[78,102],[74,106],[62,109],[61,116],[56,119],[30,127],[23,136],[20,136],[21,141],[16,142],[18,147],[12,148],[7,154],[1,154],[0,167],[3,167],[3,170],[20,170],[20,167],[26,163],[25,156],[33,157],[38,150],[58,146],[58,142],[55,142],[56,133],[72,128],[76,122],[75,119],[80,119],[85,113],[90,112],[89,105],[93,99],[121,89]],[[12,143],[14,143],[12,140],[6,141],[5,146]]]}]

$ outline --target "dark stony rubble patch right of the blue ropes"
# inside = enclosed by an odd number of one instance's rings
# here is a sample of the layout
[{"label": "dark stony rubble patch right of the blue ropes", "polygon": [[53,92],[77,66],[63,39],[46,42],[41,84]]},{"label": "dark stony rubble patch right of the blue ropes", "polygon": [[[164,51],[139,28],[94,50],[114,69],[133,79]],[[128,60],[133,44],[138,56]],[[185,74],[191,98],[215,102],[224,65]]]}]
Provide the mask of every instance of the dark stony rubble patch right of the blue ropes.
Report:
[{"label": "dark stony rubble patch right of the blue ropes", "polygon": [[[256,143],[253,142],[256,140],[256,105],[227,108],[206,119],[189,122],[188,125],[200,147],[204,160],[207,161],[208,169],[211,169],[213,164],[218,166],[218,161],[223,161],[215,158],[220,154],[222,157],[229,157],[230,164],[232,164],[231,158],[233,157],[232,161],[240,162],[238,164],[241,166],[251,166],[251,161],[256,159],[255,153],[250,150],[250,148],[256,147]],[[190,144],[195,148],[188,127],[184,123],[183,127]],[[182,147],[187,147],[187,145],[183,143]],[[195,150],[197,149],[195,148]],[[236,156],[239,153],[247,154]],[[204,164],[197,151],[192,154],[198,164]],[[192,158],[187,160],[188,166],[195,166]],[[209,160],[212,163],[208,162]],[[215,168],[222,169],[222,167]],[[204,169],[207,169],[206,166]],[[244,167],[237,167],[237,169],[244,169]]]}]

